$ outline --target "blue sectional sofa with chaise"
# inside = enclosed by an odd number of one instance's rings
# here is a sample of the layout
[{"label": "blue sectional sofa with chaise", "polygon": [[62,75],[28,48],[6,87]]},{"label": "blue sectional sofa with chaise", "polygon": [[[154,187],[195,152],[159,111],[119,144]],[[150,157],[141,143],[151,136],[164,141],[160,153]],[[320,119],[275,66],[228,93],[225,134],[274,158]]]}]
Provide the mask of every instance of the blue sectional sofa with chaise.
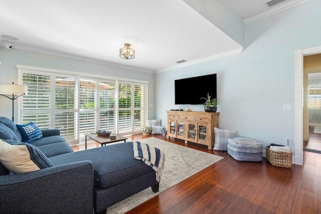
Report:
[{"label": "blue sectional sofa with chaise", "polygon": [[[60,130],[42,130],[37,146],[53,167],[14,174],[0,163],[0,213],[106,213],[149,186],[155,171],[133,157],[132,142],[73,152]],[[0,117],[0,139],[21,141],[14,122]]]}]

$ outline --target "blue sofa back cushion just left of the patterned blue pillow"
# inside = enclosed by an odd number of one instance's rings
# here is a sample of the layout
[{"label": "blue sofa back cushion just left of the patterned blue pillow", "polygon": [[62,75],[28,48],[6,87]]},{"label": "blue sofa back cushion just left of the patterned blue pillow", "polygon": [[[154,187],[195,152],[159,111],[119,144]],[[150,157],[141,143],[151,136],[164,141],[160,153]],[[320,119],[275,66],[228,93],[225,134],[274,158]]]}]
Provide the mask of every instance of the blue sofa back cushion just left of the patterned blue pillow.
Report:
[{"label": "blue sofa back cushion just left of the patterned blue pillow", "polygon": [[0,117],[0,138],[4,140],[22,140],[16,124],[7,117]]}]

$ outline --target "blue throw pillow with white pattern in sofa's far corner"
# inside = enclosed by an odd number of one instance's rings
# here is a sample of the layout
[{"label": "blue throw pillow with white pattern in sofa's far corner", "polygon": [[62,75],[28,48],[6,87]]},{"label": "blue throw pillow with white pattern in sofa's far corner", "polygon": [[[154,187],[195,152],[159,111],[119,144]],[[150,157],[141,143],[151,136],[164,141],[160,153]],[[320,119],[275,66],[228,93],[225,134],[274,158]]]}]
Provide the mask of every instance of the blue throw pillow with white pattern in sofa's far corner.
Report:
[{"label": "blue throw pillow with white pattern in sofa's far corner", "polygon": [[40,128],[33,122],[16,126],[22,136],[22,142],[30,143],[43,137]]}]

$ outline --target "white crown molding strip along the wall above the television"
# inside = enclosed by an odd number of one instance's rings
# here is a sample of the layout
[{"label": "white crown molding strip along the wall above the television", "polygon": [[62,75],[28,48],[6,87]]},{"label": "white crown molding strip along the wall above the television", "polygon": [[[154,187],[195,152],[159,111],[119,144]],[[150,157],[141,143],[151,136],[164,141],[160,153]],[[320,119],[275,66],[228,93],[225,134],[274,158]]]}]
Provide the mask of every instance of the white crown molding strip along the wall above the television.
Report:
[{"label": "white crown molding strip along the wall above the television", "polygon": [[222,54],[217,54],[217,55],[213,55],[213,56],[210,56],[210,57],[205,57],[205,58],[194,60],[194,61],[190,61],[190,62],[188,61],[188,62],[185,62],[185,63],[181,63],[179,65],[176,65],[176,66],[171,66],[171,67],[168,67],[168,68],[156,70],[155,74],[166,72],[166,71],[170,71],[170,70],[177,69],[177,68],[183,68],[183,67],[186,67],[186,66],[190,66],[190,65],[194,65],[194,64],[210,61],[210,60],[219,59],[219,58],[222,58],[222,57],[232,56],[234,54],[239,54],[242,51],[243,51],[243,48],[240,48],[240,49],[236,49],[236,50],[233,50],[233,51],[224,52]]}]

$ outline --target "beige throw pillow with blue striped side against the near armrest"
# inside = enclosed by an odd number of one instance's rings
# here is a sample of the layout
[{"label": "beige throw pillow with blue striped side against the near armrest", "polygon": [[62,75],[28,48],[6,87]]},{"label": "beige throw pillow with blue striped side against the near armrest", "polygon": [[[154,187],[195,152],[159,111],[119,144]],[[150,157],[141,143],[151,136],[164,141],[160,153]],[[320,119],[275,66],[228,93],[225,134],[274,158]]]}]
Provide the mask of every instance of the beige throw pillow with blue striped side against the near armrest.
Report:
[{"label": "beige throw pillow with blue striped side against the near armrest", "polygon": [[0,140],[0,161],[14,173],[54,166],[36,146],[14,140]]}]

